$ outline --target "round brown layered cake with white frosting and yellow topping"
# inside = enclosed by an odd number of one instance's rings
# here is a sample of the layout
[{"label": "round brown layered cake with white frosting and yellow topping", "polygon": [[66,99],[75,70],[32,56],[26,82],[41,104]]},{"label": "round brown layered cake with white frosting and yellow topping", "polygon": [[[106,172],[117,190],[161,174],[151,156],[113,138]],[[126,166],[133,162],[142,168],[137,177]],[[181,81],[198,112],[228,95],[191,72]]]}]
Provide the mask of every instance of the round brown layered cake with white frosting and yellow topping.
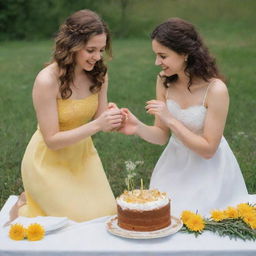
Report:
[{"label": "round brown layered cake with white frosting and yellow topping", "polygon": [[134,231],[165,228],[171,224],[170,199],[158,190],[125,191],[117,198],[117,223]]}]

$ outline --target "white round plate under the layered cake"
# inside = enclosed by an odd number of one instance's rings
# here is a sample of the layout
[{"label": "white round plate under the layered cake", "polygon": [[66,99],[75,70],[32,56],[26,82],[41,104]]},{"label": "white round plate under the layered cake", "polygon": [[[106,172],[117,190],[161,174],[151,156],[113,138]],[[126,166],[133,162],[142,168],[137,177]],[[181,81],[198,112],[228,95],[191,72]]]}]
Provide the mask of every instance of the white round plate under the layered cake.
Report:
[{"label": "white round plate under the layered cake", "polygon": [[131,239],[151,239],[169,236],[178,232],[182,228],[182,226],[182,221],[174,216],[171,216],[170,226],[163,229],[148,232],[131,231],[119,227],[117,224],[116,215],[114,217],[111,217],[111,219],[109,219],[106,222],[106,228],[111,234]]}]

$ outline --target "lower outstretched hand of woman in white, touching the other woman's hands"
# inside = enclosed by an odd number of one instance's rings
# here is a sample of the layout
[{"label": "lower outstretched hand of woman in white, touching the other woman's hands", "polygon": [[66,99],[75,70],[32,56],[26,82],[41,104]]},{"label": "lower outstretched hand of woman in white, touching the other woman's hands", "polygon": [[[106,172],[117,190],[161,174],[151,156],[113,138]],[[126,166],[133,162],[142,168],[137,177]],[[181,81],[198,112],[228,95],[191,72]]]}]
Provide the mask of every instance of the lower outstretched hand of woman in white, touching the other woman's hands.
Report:
[{"label": "lower outstretched hand of woman in white, touching the other woman's hands", "polygon": [[123,116],[125,116],[125,119],[121,125],[121,127],[118,129],[118,132],[123,133],[125,135],[133,135],[136,134],[140,121],[137,119],[135,115],[133,115],[129,109],[122,108],[121,109]]}]

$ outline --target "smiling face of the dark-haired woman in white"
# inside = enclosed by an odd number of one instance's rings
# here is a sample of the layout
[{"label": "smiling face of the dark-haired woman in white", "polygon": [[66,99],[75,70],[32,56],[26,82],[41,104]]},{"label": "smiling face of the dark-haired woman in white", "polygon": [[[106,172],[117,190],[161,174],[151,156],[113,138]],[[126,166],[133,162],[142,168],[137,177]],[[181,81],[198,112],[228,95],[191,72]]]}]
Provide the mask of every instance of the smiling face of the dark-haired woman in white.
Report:
[{"label": "smiling face of the dark-haired woman in white", "polygon": [[168,47],[158,43],[157,40],[152,40],[152,49],[156,54],[155,64],[161,66],[165,76],[172,76],[184,72],[186,67],[184,54],[178,54]]}]

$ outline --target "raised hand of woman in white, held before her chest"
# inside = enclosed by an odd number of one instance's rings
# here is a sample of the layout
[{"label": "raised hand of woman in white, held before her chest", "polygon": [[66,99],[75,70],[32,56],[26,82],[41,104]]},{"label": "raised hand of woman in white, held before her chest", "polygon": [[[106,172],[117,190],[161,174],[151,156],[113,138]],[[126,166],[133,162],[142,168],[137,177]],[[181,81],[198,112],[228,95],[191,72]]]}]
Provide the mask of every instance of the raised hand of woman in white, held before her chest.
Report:
[{"label": "raised hand of woman in white, held before her chest", "polygon": [[146,102],[147,113],[156,115],[168,127],[169,121],[173,118],[166,104],[160,100],[150,100]]}]

